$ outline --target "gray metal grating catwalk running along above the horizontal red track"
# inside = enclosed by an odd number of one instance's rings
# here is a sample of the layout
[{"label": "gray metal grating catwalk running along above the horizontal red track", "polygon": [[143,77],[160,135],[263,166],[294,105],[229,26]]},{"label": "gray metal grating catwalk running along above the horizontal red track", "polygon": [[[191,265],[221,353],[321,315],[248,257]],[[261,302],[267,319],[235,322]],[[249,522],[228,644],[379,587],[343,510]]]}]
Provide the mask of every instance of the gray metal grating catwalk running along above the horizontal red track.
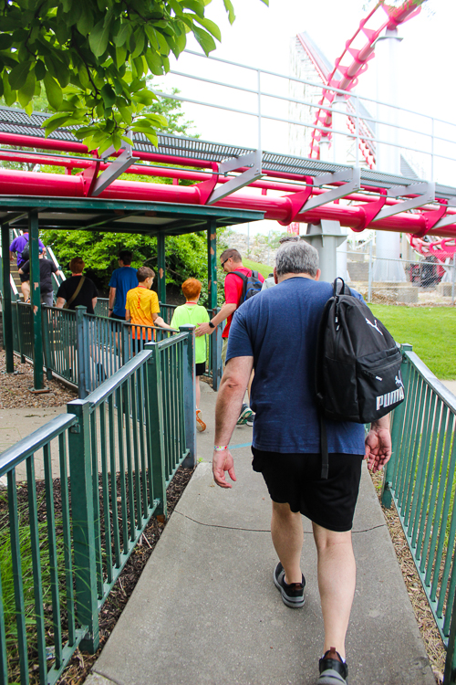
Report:
[{"label": "gray metal grating catwalk running along above the horizontal red track", "polygon": [[[0,132],[44,138],[45,131],[41,128],[41,124],[49,116],[50,114],[45,112],[34,112],[31,117],[28,117],[25,111],[16,110],[11,107],[0,107]],[[76,126],[69,126],[57,129],[51,133],[49,138],[80,142],[73,132],[77,128]],[[135,133],[134,149],[143,153],[174,154],[189,160],[204,160],[208,162],[223,162],[228,158],[240,157],[246,153],[254,152],[254,148],[203,141],[200,138],[186,138],[175,136],[171,133],[159,133],[158,140],[158,147],[155,147],[143,133]],[[263,152],[262,165],[266,171],[316,177],[321,174],[335,173],[348,168],[348,166],[343,164],[268,152]],[[398,174],[383,174],[363,168],[361,170],[361,181],[366,185],[390,188],[394,185],[416,184],[420,182],[420,179]],[[456,197],[456,188],[437,184],[436,195],[451,199]]]}]

